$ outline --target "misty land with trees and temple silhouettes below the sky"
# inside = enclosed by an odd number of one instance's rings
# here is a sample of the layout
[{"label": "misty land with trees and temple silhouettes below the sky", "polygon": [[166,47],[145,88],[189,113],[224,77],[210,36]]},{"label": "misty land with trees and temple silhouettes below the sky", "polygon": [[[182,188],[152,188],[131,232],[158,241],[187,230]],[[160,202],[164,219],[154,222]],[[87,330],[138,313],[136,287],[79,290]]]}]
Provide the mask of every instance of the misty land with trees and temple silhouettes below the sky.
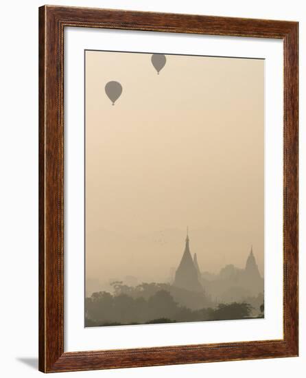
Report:
[{"label": "misty land with trees and temple silhouettes below the sky", "polygon": [[189,243],[187,234],[180,263],[165,282],[137,276],[86,282],[85,326],[263,318],[263,278],[252,247],[243,269],[229,264],[213,274],[200,269]]}]

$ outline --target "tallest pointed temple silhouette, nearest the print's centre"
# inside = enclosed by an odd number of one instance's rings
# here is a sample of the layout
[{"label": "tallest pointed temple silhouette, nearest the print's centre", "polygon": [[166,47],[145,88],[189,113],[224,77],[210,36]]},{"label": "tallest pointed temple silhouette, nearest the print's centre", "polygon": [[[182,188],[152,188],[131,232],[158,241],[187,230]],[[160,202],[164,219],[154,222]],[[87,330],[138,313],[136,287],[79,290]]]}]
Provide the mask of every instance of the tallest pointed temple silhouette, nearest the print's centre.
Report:
[{"label": "tallest pointed temple silhouette, nearest the print's centre", "polygon": [[185,251],[183,257],[180,260],[180,265],[176,269],[176,274],[174,278],[173,285],[180,287],[181,289],[186,289],[189,291],[202,291],[202,285],[199,280],[200,269],[198,267],[198,261],[195,256],[196,265],[192,260],[190,249],[189,249],[189,236],[187,232]]}]

